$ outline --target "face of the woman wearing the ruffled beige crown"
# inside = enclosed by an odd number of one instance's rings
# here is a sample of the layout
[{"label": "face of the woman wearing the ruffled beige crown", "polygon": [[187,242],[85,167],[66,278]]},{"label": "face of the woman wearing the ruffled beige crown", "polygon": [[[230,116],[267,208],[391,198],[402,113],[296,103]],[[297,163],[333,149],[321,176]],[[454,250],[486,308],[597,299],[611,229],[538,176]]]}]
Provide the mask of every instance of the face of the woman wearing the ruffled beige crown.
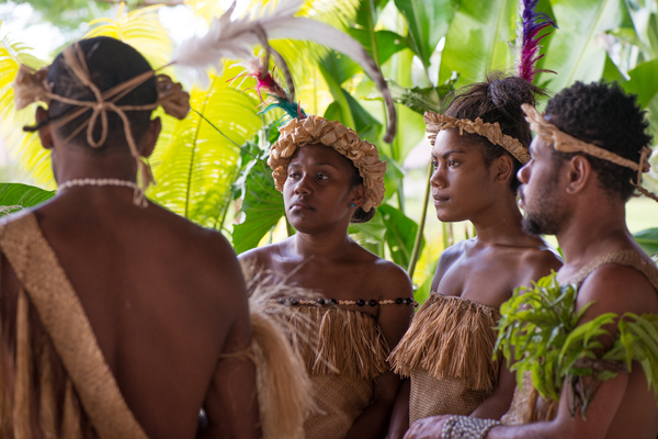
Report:
[{"label": "face of the woman wearing the ruffled beige crown", "polygon": [[[283,184],[285,214],[303,233],[344,227],[363,202],[363,185],[352,187],[354,166],[333,148],[306,145],[297,149]],[[354,203],[355,207],[350,204]]]}]

